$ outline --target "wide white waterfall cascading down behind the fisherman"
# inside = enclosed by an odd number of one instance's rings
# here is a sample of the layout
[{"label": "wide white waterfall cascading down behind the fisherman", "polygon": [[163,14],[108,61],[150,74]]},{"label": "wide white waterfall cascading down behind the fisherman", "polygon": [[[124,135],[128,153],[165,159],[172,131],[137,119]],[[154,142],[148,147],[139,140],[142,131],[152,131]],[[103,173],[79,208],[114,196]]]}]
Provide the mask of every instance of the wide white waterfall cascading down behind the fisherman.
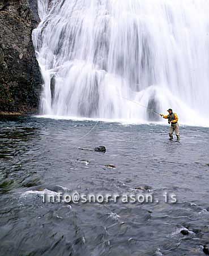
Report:
[{"label": "wide white waterfall cascading down behind the fisherman", "polygon": [[38,1],[43,114],[209,125],[208,0]]}]

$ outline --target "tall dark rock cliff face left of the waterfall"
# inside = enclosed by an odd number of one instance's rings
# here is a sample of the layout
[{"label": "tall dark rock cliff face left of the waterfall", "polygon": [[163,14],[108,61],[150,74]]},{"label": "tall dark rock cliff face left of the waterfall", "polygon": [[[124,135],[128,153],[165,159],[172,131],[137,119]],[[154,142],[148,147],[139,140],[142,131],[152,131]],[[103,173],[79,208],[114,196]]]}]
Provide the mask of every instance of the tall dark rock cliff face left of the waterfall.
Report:
[{"label": "tall dark rock cliff face left of the waterfall", "polygon": [[32,44],[37,2],[31,2],[33,10],[28,0],[0,0],[0,112],[38,111],[42,79]]}]

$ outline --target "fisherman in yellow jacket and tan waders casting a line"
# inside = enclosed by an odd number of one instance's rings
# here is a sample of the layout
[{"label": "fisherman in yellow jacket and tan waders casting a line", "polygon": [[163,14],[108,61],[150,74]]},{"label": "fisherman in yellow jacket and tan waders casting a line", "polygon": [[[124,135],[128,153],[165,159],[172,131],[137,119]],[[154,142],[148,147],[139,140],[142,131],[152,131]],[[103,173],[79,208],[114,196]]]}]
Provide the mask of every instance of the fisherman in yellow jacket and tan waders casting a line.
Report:
[{"label": "fisherman in yellow jacket and tan waders casting a line", "polygon": [[173,113],[173,110],[169,108],[168,110],[168,115],[163,115],[160,114],[163,118],[168,119],[168,123],[170,124],[170,129],[169,129],[169,140],[173,140],[173,132],[175,131],[177,141],[180,140],[180,131],[179,131],[179,125],[178,125],[178,116],[176,113]]}]

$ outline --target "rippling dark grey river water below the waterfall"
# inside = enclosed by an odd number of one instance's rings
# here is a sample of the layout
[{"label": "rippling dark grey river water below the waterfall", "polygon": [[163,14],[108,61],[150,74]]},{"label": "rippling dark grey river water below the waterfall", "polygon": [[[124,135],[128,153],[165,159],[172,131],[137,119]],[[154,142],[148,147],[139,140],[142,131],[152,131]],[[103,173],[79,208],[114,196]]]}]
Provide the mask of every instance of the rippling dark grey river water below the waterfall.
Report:
[{"label": "rippling dark grey river water below the waterfall", "polygon": [[[100,122],[80,140],[93,125],[1,116],[0,255],[204,255],[208,128],[181,126],[178,143],[166,125]],[[100,145],[106,153],[79,149]],[[154,200],[42,202],[58,190]]]}]

